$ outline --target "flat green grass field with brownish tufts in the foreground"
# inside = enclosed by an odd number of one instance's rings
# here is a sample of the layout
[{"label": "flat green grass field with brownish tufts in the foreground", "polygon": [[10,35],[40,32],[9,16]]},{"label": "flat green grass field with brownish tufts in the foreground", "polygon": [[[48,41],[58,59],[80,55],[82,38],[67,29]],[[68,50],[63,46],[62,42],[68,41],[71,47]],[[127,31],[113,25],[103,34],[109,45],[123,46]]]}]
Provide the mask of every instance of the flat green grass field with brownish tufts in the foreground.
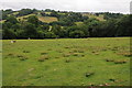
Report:
[{"label": "flat green grass field with brownish tufts in the foreground", "polygon": [[3,86],[129,86],[130,38],[3,42]]}]

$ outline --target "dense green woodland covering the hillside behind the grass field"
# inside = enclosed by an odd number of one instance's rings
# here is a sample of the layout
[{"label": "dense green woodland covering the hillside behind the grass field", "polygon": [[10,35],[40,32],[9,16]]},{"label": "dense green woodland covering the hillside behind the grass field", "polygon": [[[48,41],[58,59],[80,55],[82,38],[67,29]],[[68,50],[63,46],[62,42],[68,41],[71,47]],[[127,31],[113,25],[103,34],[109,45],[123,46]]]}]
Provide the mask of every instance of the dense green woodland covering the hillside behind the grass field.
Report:
[{"label": "dense green woodland covering the hillside behind the grass field", "polygon": [[[0,21],[4,40],[131,36],[131,14],[109,12],[92,14],[95,16],[103,15],[103,21],[84,15],[82,12],[55,11],[51,9],[2,10],[2,19]],[[18,19],[24,15],[29,16]],[[54,16],[57,18],[57,21],[42,22],[38,16]]]}]

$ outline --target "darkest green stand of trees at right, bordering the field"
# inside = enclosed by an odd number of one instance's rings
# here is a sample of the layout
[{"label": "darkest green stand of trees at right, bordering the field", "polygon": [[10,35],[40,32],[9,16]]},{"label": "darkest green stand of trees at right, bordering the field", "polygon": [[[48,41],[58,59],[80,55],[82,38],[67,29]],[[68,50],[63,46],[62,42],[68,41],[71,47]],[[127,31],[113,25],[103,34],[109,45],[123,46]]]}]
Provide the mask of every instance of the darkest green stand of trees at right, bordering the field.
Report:
[{"label": "darkest green stand of trees at right, bordering the field", "polygon": [[121,19],[111,19],[99,22],[90,28],[90,36],[111,37],[111,36],[131,36],[132,15],[124,15]]}]

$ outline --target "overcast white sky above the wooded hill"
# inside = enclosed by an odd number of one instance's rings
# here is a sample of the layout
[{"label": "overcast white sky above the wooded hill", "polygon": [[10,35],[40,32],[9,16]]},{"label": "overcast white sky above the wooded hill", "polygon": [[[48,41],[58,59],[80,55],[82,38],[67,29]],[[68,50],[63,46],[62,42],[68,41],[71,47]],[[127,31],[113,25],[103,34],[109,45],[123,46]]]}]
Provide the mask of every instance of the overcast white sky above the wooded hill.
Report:
[{"label": "overcast white sky above the wooded hill", "polygon": [[76,12],[130,13],[131,0],[0,0],[0,9],[35,8]]}]

